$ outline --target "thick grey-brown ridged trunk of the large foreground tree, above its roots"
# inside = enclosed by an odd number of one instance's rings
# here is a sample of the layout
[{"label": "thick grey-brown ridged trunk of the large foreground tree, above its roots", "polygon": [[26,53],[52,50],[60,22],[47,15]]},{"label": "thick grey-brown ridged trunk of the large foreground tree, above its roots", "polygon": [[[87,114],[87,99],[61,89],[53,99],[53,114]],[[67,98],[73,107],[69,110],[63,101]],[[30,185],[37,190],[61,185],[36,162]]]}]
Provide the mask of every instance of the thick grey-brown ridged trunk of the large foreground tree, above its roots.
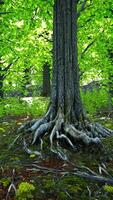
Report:
[{"label": "thick grey-brown ridged trunk of the large foreground tree, above its roots", "polygon": [[77,55],[77,1],[56,0],[53,29],[52,104],[67,120],[81,120],[83,109],[79,91]]}]

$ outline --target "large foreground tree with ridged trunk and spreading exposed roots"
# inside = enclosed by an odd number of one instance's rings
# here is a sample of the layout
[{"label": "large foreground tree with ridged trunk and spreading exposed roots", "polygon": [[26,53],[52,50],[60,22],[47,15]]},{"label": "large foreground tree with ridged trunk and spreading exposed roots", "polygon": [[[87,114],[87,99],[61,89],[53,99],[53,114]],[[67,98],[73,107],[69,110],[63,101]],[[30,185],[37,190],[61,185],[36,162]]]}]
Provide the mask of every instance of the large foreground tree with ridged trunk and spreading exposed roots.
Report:
[{"label": "large foreground tree with ridged trunk and spreading exposed roots", "polygon": [[[51,103],[46,115],[21,127],[34,133],[32,144],[50,134],[51,149],[66,145],[100,144],[100,137],[113,132],[92,124],[84,115],[79,91],[77,51],[77,0],[55,0],[53,19],[53,82]],[[25,145],[26,146],[26,145]]]}]

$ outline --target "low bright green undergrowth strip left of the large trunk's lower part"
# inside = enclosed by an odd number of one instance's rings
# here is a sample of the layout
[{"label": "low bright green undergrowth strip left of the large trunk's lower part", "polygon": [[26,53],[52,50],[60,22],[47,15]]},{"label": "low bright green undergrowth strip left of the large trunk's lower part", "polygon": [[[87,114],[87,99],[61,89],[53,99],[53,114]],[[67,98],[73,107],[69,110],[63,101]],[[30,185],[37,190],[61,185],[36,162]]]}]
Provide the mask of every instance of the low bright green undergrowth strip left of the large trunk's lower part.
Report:
[{"label": "low bright green undergrowth strip left of the large trunk's lower part", "polygon": [[[25,98],[27,99],[27,98]],[[42,116],[48,106],[49,99],[38,97],[31,100],[10,97],[0,104],[0,117],[3,116]]]}]

